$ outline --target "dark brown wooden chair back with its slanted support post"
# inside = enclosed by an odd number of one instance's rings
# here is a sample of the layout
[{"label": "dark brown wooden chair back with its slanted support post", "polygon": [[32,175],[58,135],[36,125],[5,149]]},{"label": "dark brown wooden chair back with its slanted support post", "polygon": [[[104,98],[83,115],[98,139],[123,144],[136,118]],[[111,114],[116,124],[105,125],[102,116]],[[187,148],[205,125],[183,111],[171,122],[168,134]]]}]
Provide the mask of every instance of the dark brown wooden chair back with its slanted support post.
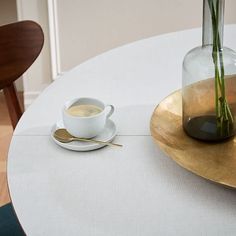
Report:
[{"label": "dark brown wooden chair back with its slanted support post", "polygon": [[22,115],[14,81],[33,64],[43,43],[42,28],[33,21],[0,27],[0,90],[3,89],[13,128]]}]

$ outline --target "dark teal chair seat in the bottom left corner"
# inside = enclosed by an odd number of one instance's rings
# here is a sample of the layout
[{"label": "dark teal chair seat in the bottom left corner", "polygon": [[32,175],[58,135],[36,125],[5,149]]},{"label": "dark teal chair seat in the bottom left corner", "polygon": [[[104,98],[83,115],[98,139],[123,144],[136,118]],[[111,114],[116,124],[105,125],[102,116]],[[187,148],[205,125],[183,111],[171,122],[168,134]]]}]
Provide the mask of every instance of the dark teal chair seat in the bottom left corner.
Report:
[{"label": "dark teal chair seat in the bottom left corner", "polygon": [[25,236],[11,203],[0,207],[0,235]]}]

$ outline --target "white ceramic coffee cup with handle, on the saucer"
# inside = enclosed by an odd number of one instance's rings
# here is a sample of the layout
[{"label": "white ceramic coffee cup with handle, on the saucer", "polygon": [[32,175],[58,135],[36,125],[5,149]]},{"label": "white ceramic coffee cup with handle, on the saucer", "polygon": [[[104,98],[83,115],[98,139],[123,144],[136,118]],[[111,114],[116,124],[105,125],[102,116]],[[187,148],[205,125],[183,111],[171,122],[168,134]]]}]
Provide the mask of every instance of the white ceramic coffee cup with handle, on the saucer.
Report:
[{"label": "white ceramic coffee cup with handle, on the saucer", "polygon": [[[95,115],[77,116],[68,112],[68,109],[79,105],[93,105],[100,109]],[[66,102],[63,107],[63,122],[67,131],[81,138],[92,138],[97,136],[105,128],[107,119],[113,114],[114,106],[105,105],[95,98],[76,98]]]}]

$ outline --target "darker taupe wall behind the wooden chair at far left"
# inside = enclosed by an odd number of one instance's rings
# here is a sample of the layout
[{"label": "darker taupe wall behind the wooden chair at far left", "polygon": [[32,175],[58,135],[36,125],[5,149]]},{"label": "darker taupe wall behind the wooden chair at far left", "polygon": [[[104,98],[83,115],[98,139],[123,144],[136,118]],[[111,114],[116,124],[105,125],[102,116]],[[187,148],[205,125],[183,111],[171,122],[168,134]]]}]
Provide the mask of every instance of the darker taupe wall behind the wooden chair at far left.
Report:
[{"label": "darker taupe wall behind the wooden chair at far left", "polygon": [[[0,0],[0,25],[17,21],[16,0]],[[18,90],[23,91],[22,79],[16,81]]]}]

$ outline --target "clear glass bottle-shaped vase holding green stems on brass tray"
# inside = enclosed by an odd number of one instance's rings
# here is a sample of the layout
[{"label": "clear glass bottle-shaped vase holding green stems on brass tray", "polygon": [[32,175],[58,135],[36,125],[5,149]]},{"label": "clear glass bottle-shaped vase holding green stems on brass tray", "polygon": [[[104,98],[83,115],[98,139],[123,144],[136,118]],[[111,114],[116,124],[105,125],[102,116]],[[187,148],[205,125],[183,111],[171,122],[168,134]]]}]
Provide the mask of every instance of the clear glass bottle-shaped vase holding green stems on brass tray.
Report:
[{"label": "clear glass bottle-shaped vase holding green stems on brass tray", "polygon": [[202,46],[183,61],[183,128],[202,141],[235,134],[236,53],[223,47],[224,0],[203,1]]}]

